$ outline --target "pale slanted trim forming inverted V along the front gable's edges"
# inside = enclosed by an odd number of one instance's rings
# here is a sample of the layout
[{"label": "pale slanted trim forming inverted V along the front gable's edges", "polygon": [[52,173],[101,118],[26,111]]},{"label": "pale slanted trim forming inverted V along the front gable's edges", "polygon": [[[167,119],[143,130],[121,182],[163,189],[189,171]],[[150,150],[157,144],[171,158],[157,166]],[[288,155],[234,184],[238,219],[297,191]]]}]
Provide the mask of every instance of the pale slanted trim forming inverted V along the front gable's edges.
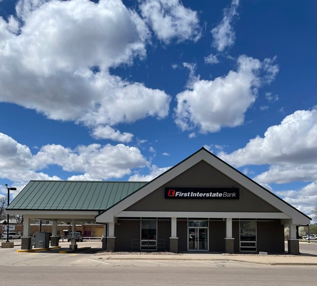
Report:
[{"label": "pale slanted trim forming inverted V along the front gable's edges", "polygon": [[[124,200],[119,202],[117,205],[109,209],[108,211],[105,211],[104,213],[97,216],[96,221],[97,222],[113,221],[114,217],[118,216],[118,214],[121,213],[123,210],[125,210],[126,208],[129,208],[131,205],[133,205],[134,203],[136,203],[143,197],[149,195],[156,189],[165,185],[168,181],[182,174],[184,171],[193,167],[194,165],[196,165],[198,162],[202,160],[207,162],[209,165],[213,166],[215,169],[219,170],[220,172],[226,174],[228,177],[230,177],[231,179],[239,183],[239,185],[243,186],[248,191],[257,195],[261,199],[265,200],[273,207],[285,213],[286,217],[292,218],[294,224],[310,223],[310,219],[304,214],[302,214],[300,211],[292,208],[285,201],[274,196],[269,191],[265,190],[264,188],[259,186],[257,183],[253,182],[251,179],[242,175],[236,169],[227,165],[224,161],[222,161],[218,157],[209,153],[204,148],[200,149],[198,152],[194,153],[192,156],[189,156],[187,159],[183,160],[172,169],[166,171],[165,173],[163,173],[162,175],[160,175],[153,181],[149,182],[139,191],[125,198]],[[266,214],[269,214],[269,213],[266,213]],[[153,216],[153,215],[150,215],[150,216]]]}]

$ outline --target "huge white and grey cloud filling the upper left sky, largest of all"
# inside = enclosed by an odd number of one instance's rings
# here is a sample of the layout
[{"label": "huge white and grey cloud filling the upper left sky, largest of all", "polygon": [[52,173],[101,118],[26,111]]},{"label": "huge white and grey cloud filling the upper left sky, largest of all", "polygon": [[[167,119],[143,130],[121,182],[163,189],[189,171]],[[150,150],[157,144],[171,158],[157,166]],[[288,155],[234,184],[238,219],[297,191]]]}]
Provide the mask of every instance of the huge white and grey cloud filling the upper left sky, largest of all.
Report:
[{"label": "huge white and grey cloud filling the upper left sky, largest of all", "polygon": [[[20,0],[16,10],[8,22],[0,17],[0,101],[93,130],[167,116],[169,95],[109,72],[144,58],[150,39],[121,1]],[[113,140],[132,136],[118,132]]]}]

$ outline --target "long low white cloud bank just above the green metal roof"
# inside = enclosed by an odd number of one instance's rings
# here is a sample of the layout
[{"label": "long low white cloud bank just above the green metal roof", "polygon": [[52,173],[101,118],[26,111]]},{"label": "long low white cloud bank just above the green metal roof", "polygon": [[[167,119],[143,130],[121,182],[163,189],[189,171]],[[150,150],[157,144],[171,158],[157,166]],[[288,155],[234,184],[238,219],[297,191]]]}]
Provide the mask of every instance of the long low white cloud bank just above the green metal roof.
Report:
[{"label": "long low white cloud bank just above the green metal roof", "polygon": [[12,181],[31,179],[59,179],[50,176],[50,166],[59,166],[66,172],[77,172],[69,179],[105,180],[131,174],[133,168],[147,165],[146,159],[136,147],[123,144],[77,146],[75,149],[61,145],[45,145],[33,155],[30,149],[12,137],[0,133],[0,174]]}]

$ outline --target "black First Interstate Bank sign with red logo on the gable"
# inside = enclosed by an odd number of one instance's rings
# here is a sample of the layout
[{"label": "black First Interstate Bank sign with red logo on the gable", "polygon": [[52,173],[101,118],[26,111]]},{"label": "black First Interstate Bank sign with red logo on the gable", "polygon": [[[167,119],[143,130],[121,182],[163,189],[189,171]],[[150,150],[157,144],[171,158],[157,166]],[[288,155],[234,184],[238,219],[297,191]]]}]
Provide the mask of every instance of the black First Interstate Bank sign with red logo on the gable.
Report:
[{"label": "black First Interstate Bank sign with red logo on the gable", "polygon": [[166,199],[239,199],[239,188],[165,188]]}]

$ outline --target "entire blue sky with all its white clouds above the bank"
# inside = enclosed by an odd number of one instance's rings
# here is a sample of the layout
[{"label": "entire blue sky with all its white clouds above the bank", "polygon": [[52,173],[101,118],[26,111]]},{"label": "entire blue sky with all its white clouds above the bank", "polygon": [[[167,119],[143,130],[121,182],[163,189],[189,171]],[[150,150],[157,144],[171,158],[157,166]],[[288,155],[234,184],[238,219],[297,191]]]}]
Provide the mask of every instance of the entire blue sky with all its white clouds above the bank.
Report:
[{"label": "entire blue sky with all its white clouds above the bank", "polygon": [[3,195],[205,147],[311,215],[316,2],[0,0],[0,114]]}]

